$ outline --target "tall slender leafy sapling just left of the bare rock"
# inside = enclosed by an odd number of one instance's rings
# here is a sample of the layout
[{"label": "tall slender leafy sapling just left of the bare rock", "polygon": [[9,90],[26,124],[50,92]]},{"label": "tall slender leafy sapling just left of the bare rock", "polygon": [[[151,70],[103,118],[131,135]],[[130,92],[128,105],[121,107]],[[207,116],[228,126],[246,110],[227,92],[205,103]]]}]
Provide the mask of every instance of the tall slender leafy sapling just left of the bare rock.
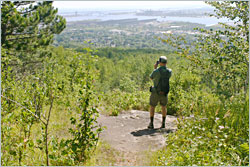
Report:
[{"label": "tall slender leafy sapling just left of the bare rock", "polygon": [[[76,95],[76,111],[80,114],[79,118],[71,117],[71,124],[74,128],[70,128],[73,138],[67,140],[70,151],[73,154],[75,163],[84,163],[89,157],[89,153],[96,147],[99,133],[102,131],[96,125],[98,111],[95,107],[95,93],[93,92],[93,81],[96,75],[93,70],[93,64],[96,57],[92,56],[87,50],[87,54],[79,54],[75,61],[78,64],[76,70],[76,81],[74,82],[74,91]],[[94,75],[95,74],[95,75]]]}]

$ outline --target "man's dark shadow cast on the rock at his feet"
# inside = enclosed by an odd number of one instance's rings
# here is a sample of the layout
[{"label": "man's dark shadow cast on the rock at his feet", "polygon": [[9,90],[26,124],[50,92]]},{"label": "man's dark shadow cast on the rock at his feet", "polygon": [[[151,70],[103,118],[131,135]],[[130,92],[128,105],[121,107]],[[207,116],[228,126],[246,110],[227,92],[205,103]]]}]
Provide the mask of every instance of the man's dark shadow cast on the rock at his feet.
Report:
[{"label": "man's dark shadow cast on the rock at his feet", "polygon": [[144,135],[150,135],[150,136],[155,136],[157,133],[161,133],[161,134],[167,134],[167,133],[171,133],[173,132],[173,129],[141,129],[141,130],[136,130],[134,132],[131,132],[131,134],[133,136],[144,136]]}]

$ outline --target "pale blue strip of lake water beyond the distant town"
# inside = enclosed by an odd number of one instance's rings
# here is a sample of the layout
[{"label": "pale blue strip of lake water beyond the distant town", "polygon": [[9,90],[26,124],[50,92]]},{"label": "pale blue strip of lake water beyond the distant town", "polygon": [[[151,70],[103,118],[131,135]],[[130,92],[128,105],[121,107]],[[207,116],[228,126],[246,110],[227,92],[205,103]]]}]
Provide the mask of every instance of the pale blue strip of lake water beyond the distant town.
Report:
[{"label": "pale blue strip of lake water beyond the distant town", "polygon": [[83,20],[121,20],[121,19],[133,19],[137,18],[138,20],[148,20],[148,19],[157,19],[157,21],[180,21],[180,22],[190,22],[190,23],[199,23],[205,24],[206,26],[218,24],[218,22],[228,22],[227,19],[217,19],[215,17],[175,17],[175,16],[137,16],[134,13],[128,14],[119,14],[113,15],[108,12],[83,12],[83,13],[61,13],[67,20],[67,22],[72,21],[83,21]]}]

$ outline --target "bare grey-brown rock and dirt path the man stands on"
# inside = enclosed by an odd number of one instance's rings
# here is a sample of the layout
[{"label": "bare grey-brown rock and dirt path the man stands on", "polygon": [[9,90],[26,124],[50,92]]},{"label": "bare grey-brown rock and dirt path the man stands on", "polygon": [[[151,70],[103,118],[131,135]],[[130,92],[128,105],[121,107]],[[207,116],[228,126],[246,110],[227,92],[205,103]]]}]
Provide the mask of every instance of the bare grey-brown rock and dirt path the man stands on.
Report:
[{"label": "bare grey-brown rock and dirt path the man stands on", "polygon": [[131,110],[118,116],[100,115],[98,122],[106,129],[101,139],[119,151],[121,156],[116,166],[145,165],[142,162],[143,152],[156,151],[165,145],[165,135],[176,130],[176,117],[167,116],[166,128],[160,129],[162,116],[155,113],[155,129],[147,129],[149,112]]}]

